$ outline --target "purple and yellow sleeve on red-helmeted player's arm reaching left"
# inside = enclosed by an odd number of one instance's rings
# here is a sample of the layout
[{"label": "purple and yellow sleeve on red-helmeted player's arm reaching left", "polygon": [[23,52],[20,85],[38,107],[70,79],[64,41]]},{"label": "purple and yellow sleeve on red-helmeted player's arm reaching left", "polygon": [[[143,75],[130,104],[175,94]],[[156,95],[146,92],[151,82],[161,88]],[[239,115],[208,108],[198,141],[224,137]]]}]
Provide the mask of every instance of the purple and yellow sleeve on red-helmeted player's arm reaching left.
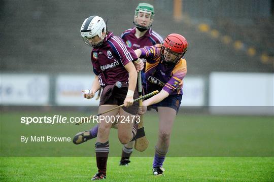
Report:
[{"label": "purple and yellow sleeve on red-helmeted player's arm reaching left", "polygon": [[147,62],[152,63],[161,57],[160,49],[156,46],[141,48],[140,58],[147,59]]}]

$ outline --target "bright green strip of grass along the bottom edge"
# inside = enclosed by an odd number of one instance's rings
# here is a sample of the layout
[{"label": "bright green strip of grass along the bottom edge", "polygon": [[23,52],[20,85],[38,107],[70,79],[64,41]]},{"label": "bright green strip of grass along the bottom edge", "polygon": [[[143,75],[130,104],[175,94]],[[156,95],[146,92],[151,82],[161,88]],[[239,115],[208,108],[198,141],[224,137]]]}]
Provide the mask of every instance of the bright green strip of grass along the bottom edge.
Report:
[{"label": "bright green strip of grass along the bottom edge", "polygon": [[[95,158],[1,158],[1,181],[89,181]],[[152,175],[153,158],[132,158],[128,167],[109,158],[108,181],[273,181],[273,158],[173,158],[165,176]]]}]

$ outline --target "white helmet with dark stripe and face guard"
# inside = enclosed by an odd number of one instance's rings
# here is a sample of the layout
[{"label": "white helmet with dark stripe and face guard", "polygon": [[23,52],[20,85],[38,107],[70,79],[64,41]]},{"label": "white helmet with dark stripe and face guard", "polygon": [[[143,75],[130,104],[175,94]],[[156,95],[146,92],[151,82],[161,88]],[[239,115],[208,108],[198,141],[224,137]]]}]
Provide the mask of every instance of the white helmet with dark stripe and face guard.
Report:
[{"label": "white helmet with dark stripe and face guard", "polygon": [[[85,19],[85,21],[83,22],[81,26],[81,36],[84,42],[87,45],[92,47],[98,47],[103,43],[106,34],[103,37],[102,32],[106,32],[106,31],[107,31],[107,26],[104,19],[98,16],[88,17],[87,19]],[[95,43],[94,42],[89,43],[88,39],[91,39],[95,37],[96,35],[98,35],[98,37],[101,40]]]}]

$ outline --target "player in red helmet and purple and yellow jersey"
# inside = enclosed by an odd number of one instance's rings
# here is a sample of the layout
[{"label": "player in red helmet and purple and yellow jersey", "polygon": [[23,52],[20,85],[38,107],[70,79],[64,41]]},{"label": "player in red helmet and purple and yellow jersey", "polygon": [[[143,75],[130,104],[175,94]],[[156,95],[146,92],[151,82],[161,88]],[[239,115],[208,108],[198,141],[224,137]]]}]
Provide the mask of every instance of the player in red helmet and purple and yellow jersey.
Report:
[{"label": "player in red helmet and purple and yellow jersey", "polygon": [[146,91],[160,91],[159,94],[145,100],[143,111],[139,112],[144,114],[147,106],[151,106],[159,114],[158,141],[153,161],[154,175],[163,175],[162,165],[183,95],[183,78],[187,73],[187,66],[186,60],[182,57],[187,46],[187,40],[182,35],[172,33],[165,38],[162,45],[135,50],[138,57],[147,59]]}]

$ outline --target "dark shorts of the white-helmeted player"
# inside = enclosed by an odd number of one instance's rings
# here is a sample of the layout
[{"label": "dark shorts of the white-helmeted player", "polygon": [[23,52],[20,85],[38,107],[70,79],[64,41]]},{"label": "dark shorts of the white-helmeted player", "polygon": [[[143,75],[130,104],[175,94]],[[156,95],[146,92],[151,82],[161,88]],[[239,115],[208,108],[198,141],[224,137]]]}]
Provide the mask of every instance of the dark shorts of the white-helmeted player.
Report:
[{"label": "dark shorts of the white-helmeted player", "polygon": [[[116,85],[107,85],[102,90],[100,96],[100,103],[99,105],[122,105],[124,104],[124,100],[128,90],[128,84],[120,82],[117,87]],[[119,88],[120,87],[120,88]],[[139,97],[137,88],[134,91],[133,99]],[[123,106],[123,110],[131,115],[136,115],[138,111],[139,103],[133,102],[133,105],[129,107]]]}]

